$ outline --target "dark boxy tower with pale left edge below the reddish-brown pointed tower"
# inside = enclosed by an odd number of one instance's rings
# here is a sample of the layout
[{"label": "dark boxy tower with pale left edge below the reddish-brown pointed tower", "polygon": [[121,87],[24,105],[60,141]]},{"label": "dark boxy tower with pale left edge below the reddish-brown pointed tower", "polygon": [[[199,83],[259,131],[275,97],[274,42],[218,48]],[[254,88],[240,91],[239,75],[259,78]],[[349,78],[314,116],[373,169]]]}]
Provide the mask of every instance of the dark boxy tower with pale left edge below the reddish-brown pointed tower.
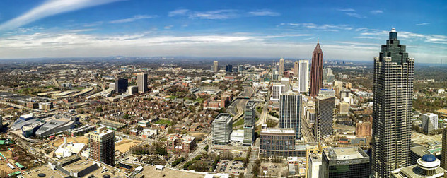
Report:
[{"label": "dark boxy tower with pale left edge below the reddish-brown pointed tower", "polygon": [[319,95],[315,101],[315,124],[313,135],[323,140],[332,135],[332,119],[334,119],[335,97]]}]

